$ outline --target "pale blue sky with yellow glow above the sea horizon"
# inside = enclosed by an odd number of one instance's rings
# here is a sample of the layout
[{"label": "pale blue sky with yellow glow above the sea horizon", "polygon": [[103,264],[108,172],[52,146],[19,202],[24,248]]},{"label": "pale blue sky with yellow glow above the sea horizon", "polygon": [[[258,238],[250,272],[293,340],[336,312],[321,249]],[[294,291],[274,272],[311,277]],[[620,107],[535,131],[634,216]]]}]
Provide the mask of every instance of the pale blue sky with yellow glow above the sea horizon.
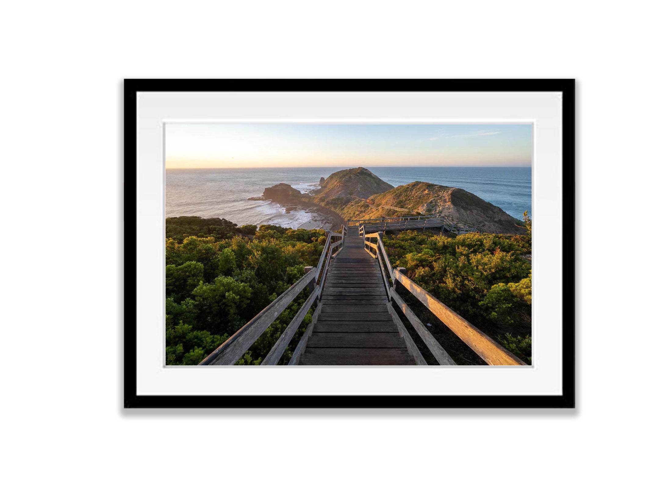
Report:
[{"label": "pale blue sky with yellow glow above the sea horizon", "polygon": [[166,124],[166,168],[531,166],[531,124]]}]

